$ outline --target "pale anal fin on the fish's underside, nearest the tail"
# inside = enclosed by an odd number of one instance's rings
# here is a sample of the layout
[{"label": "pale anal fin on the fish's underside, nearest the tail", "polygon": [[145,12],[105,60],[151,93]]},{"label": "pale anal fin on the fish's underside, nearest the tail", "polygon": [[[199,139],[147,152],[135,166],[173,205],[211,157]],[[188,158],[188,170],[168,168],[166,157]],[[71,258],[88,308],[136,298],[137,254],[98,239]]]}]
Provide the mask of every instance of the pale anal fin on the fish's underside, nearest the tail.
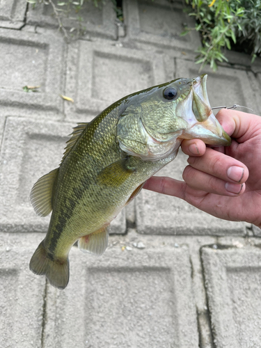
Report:
[{"label": "pale anal fin on the fish's underside, nearest the tail", "polygon": [[90,235],[81,237],[78,247],[81,251],[94,255],[102,255],[108,246],[109,226],[101,228]]}]

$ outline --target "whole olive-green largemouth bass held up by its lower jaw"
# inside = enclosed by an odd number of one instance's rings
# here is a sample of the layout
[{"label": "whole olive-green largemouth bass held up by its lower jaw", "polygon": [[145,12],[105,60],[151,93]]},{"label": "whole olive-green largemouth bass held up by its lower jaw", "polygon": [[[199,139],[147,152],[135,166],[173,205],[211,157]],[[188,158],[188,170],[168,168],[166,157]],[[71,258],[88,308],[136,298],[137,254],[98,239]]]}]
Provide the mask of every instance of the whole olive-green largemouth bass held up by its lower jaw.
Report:
[{"label": "whole olive-green largemouth bass held up by its lower jaw", "polygon": [[69,252],[102,255],[109,225],[152,175],[175,159],[183,139],[229,146],[207,97],[207,75],[179,78],[127,95],[88,123],[78,123],[60,166],[33,185],[35,213],[52,212],[30,261],[60,290],[69,282]]}]

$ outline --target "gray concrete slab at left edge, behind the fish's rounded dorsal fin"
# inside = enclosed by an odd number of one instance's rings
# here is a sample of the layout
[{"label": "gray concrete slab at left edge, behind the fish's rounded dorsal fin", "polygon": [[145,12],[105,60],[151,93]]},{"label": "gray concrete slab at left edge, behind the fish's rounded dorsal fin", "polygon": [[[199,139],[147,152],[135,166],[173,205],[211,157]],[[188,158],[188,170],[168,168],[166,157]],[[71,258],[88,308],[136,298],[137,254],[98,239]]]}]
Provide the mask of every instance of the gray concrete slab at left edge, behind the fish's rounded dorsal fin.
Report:
[{"label": "gray concrete slab at left edge, behind the fish's rounded dorsal fin", "polygon": [[[0,230],[47,232],[49,216],[33,212],[33,184],[58,167],[73,124],[7,118],[0,157]],[[15,139],[15,141],[14,141]],[[111,224],[111,233],[124,233],[125,211]]]}]

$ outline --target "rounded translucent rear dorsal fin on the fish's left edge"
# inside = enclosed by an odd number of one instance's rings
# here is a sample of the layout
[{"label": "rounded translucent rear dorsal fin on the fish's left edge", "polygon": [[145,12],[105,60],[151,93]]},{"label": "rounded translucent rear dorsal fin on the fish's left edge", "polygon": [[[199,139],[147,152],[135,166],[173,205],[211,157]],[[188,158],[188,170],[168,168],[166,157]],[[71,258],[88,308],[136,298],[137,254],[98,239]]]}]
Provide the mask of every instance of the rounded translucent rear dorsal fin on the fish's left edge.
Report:
[{"label": "rounded translucent rear dorsal fin on the fish's left edge", "polygon": [[35,213],[39,216],[47,216],[52,212],[52,196],[54,192],[54,181],[58,174],[58,169],[40,177],[35,182],[30,193],[30,200]]}]

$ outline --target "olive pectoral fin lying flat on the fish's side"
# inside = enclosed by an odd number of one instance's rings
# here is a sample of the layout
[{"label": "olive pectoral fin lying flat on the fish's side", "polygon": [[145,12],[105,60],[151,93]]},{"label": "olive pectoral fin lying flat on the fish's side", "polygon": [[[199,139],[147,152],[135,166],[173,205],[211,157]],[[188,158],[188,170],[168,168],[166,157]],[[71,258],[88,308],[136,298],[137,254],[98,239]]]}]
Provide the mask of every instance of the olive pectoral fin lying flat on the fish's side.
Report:
[{"label": "olive pectoral fin lying flat on the fish's side", "polygon": [[113,162],[97,175],[97,182],[111,187],[119,187],[136,170],[129,166],[129,157]]}]

